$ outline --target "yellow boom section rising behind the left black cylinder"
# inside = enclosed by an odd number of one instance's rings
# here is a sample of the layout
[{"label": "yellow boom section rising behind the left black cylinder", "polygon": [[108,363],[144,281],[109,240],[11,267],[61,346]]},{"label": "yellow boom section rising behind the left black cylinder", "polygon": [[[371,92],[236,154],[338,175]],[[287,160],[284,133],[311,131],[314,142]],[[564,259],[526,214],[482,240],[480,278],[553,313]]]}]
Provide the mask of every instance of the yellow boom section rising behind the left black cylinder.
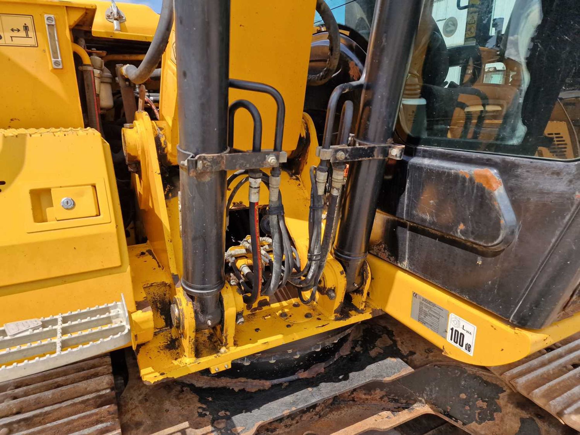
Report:
[{"label": "yellow boom section rising behind the left black cylinder", "polygon": [[[286,119],[282,148],[296,148],[306,92],[315,0],[276,2],[232,0],[230,78],[262,82],[276,88],[284,98]],[[292,17],[292,20],[280,20]],[[276,26],[272,26],[276,23]],[[160,119],[167,123],[169,161],[176,164],[179,144],[177,86],[175,78],[175,31],[163,59]],[[276,103],[269,95],[231,89],[230,103],[247,99],[262,115],[262,147],[274,147]],[[235,116],[235,148],[252,148],[252,118],[244,110]]]}]

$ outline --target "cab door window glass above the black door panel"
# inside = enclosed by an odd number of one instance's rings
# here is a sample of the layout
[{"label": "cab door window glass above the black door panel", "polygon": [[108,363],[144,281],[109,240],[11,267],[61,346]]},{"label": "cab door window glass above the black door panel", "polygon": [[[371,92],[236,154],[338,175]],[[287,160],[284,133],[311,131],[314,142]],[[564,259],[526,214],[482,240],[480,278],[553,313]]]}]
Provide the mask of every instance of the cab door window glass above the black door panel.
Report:
[{"label": "cab door window glass above the black door panel", "polygon": [[578,158],[579,10],[577,0],[426,0],[400,136],[426,146]]}]

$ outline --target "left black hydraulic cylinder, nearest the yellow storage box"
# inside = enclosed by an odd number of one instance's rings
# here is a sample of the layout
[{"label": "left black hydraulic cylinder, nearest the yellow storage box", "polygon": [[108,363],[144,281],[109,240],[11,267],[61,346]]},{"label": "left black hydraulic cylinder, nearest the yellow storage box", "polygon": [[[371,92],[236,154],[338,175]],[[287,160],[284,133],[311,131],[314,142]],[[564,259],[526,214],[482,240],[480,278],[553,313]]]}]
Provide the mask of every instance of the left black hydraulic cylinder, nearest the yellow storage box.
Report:
[{"label": "left black hydraulic cylinder, nearest the yellow storage box", "polygon": [[[179,149],[227,150],[230,49],[229,0],[175,0]],[[180,170],[182,287],[194,297],[196,329],[222,319],[225,284],[226,171]]]}]

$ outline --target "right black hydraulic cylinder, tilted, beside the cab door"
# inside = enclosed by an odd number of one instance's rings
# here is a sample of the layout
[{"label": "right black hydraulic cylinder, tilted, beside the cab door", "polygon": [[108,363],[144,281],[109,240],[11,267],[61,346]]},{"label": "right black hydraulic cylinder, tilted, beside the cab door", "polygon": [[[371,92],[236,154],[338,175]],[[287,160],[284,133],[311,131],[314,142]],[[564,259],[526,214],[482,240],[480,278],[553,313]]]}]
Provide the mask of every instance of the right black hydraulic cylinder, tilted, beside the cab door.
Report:
[{"label": "right black hydraulic cylinder, tilted, beside the cab door", "polygon": [[[372,20],[364,86],[355,139],[385,144],[393,134],[423,0],[377,0]],[[354,162],[349,168],[342,220],[334,255],[345,268],[346,289],[363,283],[372,223],[385,173],[385,160]]]}]

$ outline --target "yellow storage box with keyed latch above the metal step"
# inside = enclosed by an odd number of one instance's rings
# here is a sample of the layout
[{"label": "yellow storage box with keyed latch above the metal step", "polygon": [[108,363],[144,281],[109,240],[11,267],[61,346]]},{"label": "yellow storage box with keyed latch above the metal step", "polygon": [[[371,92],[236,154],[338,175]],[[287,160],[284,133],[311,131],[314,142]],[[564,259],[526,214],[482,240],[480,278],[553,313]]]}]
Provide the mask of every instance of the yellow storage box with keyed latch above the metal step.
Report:
[{"label": "yellow storage box with keyed latch above the metal step", "polygon": [[[113,162],[99,133],[0,130],[0,174],[0,324],[118,301],[121,293],[134,311]],[[63,209],[61,195],[75,208]]]}]

